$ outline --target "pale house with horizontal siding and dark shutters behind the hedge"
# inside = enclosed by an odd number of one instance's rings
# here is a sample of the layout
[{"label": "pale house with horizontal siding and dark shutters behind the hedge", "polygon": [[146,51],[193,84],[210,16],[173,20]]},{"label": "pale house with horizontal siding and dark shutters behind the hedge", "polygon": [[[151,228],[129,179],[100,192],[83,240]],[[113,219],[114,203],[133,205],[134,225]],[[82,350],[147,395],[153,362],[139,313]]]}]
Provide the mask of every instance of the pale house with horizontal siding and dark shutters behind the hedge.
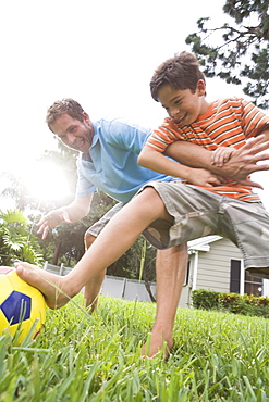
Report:
[{"label": "pale house with horizontal siding and dark shutters behind the hedge", "polygon": [[180,306],[191,304],[195,289],[269,296],[269,280],[245,273],[242,253],[221,236],[207,236],[188,242],[188,267]]}]

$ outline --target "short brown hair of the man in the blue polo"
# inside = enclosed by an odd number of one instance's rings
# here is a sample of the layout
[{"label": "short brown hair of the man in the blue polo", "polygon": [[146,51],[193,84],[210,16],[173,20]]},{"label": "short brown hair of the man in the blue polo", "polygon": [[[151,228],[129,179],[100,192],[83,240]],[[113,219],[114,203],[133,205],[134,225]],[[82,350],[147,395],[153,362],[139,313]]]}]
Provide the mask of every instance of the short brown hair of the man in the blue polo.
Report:
[{"label": "short brown hair of the man in the blue polo", "polygon": [[[47,111],[46,123],[51,130],[50,125],[56,122],[56,120],[62,114],[69,114],[71,117],[84,121],[84,110],[78,102],[71,98],[64,98],[60,101],[56,101]],[[52,131],[52,130],[51,130]]]}]

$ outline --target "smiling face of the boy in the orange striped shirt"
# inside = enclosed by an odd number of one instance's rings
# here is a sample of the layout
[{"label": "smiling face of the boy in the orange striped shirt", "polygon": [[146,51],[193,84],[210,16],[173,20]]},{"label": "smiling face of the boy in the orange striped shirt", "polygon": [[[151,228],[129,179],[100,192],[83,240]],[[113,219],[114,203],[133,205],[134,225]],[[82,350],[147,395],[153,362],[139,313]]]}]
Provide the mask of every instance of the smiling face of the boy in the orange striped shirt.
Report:
[{"label": "smiling face of the boy in the orange striped shirt", "polygon": [[169,116],[182,126],[194,123],[198,116],[207,112],[208,103],[205,100],[206,86],[203,79],[197,83],[196,91],[191,89],[174,89],[171,85],[163,85],[158,91],[158,100]]}]

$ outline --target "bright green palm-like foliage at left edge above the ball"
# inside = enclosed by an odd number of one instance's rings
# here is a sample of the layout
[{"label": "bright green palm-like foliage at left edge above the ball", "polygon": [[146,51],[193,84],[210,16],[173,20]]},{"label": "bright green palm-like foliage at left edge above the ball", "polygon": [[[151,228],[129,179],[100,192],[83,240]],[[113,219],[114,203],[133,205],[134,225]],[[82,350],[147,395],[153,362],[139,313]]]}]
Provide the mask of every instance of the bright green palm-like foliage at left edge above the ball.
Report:
[{"label": "bright green palm-like foliage at left edge above the ball", "polygon": [[29,223],[21,211],[0,211],[0,265],[12,265],[16,260],[33,264],[44,262],[40,247],[30,234]]}]

